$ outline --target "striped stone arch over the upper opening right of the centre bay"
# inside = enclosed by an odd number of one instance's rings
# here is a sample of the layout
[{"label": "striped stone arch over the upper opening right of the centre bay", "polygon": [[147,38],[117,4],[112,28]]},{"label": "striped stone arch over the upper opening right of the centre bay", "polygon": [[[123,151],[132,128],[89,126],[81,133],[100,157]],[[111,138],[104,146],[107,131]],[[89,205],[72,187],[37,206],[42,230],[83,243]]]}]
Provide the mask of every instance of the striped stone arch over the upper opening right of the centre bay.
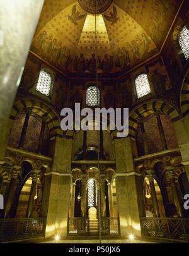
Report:
[{"label": "striped stone arch over the upper opening right of the centre bay", "polygon": [[146,118],[157,111],[168,115],[173,122],[181,118],[181,113],[175,104],[166,100],[154,100],[136,106],[129,114],[129,135],[135,139],[139,119]]}]

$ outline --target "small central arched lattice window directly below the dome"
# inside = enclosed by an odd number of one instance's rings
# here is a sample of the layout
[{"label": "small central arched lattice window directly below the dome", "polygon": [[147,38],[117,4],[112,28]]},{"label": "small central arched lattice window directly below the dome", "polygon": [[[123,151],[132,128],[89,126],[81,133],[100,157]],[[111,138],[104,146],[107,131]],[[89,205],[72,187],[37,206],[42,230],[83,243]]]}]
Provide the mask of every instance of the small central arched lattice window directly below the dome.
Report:
[{"label": "small central arched lattice window directly below the dome", "polygon": [[90,86],[86,91],[86,106],[100,107],[100,90],[96,86]]}]

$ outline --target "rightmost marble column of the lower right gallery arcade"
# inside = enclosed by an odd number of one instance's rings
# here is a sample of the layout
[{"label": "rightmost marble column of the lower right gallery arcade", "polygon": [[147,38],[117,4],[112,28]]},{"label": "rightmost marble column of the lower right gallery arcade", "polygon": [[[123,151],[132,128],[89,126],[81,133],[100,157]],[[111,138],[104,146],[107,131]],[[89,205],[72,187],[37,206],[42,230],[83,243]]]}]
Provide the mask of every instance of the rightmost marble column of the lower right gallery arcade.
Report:
[{"label": "rightmost marble column of the lower right gallery arcade", "polygon": [[172,193],[173,193],[173,200],[174,200],[174,204],[176,206],[176,210],[177,210],[178,216],[179,217],[183,217],[184,216],[183,208],[182,208],[182,205],[181,205],[181,202],[180,202],[180,198],[179,198],[179,195],[178,195],[178,190],[176,188],[174,172],[173,171],[168,171],[168,177],[169,177],[169,180],[171,182],[171,189],[172,189]]}]

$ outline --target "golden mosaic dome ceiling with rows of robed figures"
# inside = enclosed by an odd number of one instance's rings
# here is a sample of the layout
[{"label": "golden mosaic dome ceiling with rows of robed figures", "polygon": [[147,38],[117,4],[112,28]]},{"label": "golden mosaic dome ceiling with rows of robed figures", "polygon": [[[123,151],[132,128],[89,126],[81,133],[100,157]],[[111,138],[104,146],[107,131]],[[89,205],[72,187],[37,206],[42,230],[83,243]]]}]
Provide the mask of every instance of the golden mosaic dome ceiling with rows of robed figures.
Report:
[{"label": "golden mosaic dome ceiling with rows of robed figures", "polygon": [[[93,2],[46,0],[31,51],[60,70],[93,72]],[[97,2],[98,13],[103,11],[97,16],[98,70],[102,73],[128,70],[159,52],[181,4],[181,0]]]}]

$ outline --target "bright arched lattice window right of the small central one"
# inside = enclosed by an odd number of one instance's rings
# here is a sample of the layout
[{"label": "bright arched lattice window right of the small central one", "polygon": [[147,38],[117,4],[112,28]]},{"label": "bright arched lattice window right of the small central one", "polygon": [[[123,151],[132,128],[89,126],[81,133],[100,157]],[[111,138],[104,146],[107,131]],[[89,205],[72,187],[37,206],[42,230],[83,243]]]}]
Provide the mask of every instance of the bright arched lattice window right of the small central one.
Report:
[{"label": "bright arched lattice window right of the small central one", "polygon": [[135,79],[135,87],[137,91],[137,98],[141,98],[151,93],[151,87],[146,74],[141,74]]}]

